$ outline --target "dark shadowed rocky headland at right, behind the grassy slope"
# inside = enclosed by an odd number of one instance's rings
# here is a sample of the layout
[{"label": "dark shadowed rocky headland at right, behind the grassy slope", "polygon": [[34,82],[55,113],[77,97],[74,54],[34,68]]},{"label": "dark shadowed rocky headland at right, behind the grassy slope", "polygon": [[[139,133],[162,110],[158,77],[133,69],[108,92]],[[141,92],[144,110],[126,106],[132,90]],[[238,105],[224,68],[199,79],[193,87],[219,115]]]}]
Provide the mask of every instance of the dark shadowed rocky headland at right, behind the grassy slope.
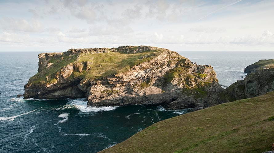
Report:
[{"label": "dark shadowed rocky headland at right, behind the grassy slope", "polygon": [[274,60],[260,60],[245,68],[244,80],[230,85],[221,94],[221,100],[232,102],[239,99],[257,97],[274,91]]}]

